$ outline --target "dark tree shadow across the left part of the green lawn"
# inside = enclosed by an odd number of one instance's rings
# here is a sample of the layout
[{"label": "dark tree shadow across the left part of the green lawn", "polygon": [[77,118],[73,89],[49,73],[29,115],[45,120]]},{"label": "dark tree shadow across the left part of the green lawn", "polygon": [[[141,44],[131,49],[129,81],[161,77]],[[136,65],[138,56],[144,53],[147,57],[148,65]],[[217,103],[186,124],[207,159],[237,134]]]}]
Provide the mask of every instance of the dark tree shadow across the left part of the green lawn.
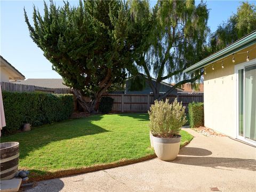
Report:
[{"label": "dark tree shadow across the left part of the green lawn", "polygon": [[92,124],[92,121],[99,121],[101,118],[101,115],[94,115],[86,118],[68,119],[62,122],[42,125],[35,127],[29,132],[17,133],[1,138],[1,142],[19,142],[19,158],[23,159],[31,151],[42,148],[51,142],[108,132],[108,130]]}]

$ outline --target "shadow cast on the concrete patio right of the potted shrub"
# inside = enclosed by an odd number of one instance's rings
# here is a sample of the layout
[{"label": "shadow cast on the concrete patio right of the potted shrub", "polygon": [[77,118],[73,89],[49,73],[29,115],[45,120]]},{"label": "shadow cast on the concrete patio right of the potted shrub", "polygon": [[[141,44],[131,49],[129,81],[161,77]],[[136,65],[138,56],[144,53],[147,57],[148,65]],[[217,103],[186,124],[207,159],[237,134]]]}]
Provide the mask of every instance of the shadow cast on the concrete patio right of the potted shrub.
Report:
[{"label": "shadow cast on the concrete patio right of the potted shrub", "polygon": [[[242,159],[242,158],[229,158],[229,157],[194,157],[194,156],[207,156],[212,152],[202,148],[184,147],[180,149],[179,155],[170,163],[195,165],[212,167],[215,169],[223,169],[221,167],[236,168],[243,170],[256,171],[255,159]],[[231,170],[230,170],[231,171]]]}]

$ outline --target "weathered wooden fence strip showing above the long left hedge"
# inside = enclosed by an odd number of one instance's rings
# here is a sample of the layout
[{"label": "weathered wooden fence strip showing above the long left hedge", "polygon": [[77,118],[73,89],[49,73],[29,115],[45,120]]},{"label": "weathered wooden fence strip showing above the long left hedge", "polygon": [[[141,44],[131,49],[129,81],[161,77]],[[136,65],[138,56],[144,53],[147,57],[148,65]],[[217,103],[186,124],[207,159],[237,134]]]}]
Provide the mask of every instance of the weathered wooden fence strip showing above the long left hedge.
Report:
[{"label": "weathered wooden fence strip showing above the long left hedge", "polygon": [[1,82],[1,87],[3,91],[12,92],[44,92],[44,93],[57,93],[57,94],[71,94],[72,91],[69,88],[46,88],[39,87],[35,85],[22,85],[9,82]]}]

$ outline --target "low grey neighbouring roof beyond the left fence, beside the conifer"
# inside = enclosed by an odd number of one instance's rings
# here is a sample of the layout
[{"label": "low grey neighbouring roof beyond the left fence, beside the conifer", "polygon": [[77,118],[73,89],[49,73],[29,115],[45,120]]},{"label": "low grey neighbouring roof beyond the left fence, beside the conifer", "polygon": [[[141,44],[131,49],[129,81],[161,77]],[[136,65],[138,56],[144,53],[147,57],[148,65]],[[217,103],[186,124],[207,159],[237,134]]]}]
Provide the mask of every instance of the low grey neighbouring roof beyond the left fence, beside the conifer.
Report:
[{"label": "low grey neighbouring roof beyond the left fence, beside the conifer", "polygon": [[63,85],[64,81],[62,78],[28,78],[25,81],[17,81],[12,83],[22,85],[35,85],[46,88],[69,88],[68,86]]}]

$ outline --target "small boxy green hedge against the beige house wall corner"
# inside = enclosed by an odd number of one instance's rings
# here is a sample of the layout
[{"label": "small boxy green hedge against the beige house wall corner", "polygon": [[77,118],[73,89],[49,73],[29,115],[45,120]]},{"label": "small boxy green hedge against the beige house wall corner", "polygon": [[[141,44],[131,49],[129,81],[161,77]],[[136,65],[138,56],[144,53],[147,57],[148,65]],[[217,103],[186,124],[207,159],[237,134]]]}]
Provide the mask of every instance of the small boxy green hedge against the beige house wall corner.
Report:
[{"label": "small boxy green hedge against the beige house wall corner", "polygon": [[204,103],[193,102],[188,105],[189,126],[204,126]]}]

